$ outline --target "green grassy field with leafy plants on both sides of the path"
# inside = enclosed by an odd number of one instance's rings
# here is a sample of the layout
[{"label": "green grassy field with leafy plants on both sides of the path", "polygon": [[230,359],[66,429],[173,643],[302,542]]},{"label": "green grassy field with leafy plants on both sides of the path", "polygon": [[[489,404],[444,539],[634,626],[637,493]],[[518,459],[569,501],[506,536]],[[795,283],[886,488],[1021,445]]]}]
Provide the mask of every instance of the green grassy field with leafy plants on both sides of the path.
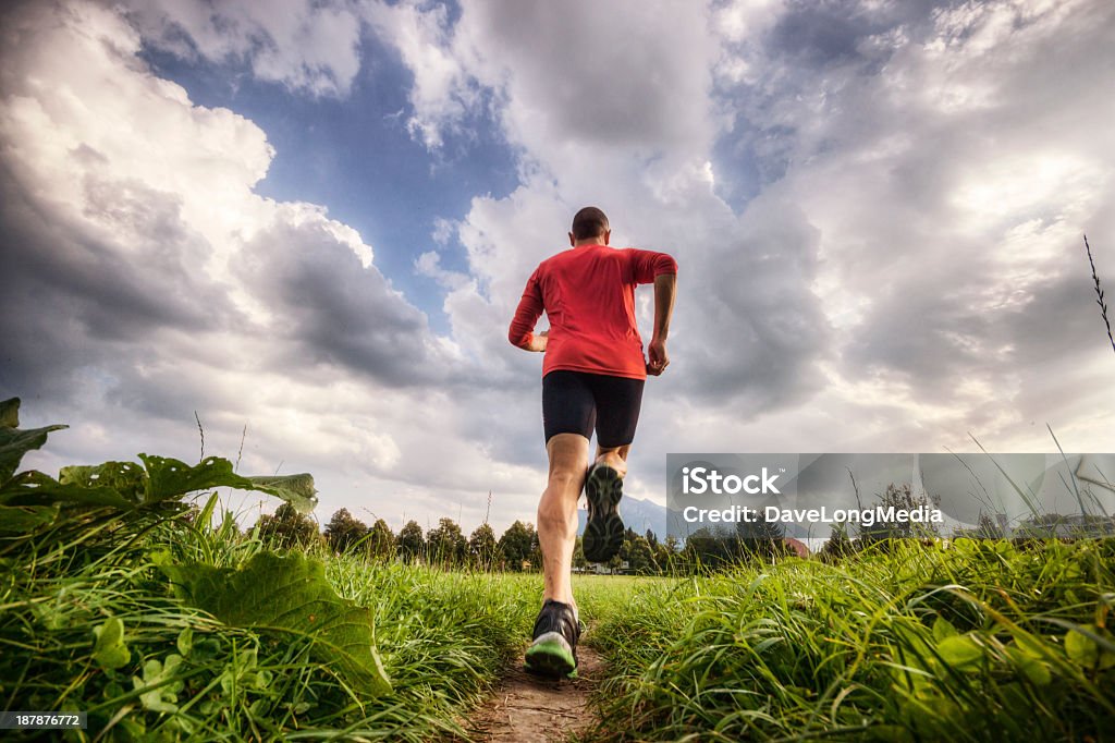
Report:
[{"label": "green grassy field with leafy plants on both sides of the path", "polygon": [[[277,551],[229,515],[195,525],[215,496],[182,502],[273,482],[212,459],[14,474],[13,447],[45,438],[0,436],[0,698],[88,713],[65,740],[463,737],[521,663],[537,575]],[[607,662],[582,736],[1113,740],[1113,566],[1112,539],[908,540],[835,563],[578,576]]]}]

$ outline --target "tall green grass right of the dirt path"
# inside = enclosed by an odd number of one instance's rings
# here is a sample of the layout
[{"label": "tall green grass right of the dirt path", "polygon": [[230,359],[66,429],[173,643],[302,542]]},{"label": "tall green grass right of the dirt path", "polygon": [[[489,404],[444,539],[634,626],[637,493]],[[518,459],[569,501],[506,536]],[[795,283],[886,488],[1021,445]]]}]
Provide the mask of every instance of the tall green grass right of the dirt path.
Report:
[{"label": "tall green grass right of the dirt path", "polygon": [[1115,541],[898,543],[603,610],[599,740],[1107,740]]}]

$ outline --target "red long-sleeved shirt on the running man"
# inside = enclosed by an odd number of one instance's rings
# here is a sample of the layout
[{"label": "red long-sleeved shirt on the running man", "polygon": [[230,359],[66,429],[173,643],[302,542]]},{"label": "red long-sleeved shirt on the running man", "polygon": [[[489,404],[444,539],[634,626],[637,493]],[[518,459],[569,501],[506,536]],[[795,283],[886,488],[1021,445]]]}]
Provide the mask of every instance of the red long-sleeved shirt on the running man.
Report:
[{"label": "red long-sleeved shirt on the running man", "polygon": [[539,264],[526,281],[507,339],[530,344],[544,311],[550,319],[542,376],[558,369],[647,378],[634,321],[634,288],[677,273],[667,253],[578,245]]}]

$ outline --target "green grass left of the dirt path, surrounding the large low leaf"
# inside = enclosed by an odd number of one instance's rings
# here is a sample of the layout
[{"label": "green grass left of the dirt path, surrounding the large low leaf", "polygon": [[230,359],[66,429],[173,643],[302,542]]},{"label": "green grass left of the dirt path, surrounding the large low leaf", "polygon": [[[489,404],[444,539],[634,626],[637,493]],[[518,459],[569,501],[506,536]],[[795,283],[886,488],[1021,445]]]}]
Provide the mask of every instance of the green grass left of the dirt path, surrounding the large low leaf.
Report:
[{"label": "green grass left of the dirt path, surrounding the large low leaf", "polygon": [[[329,583],[371,610],[392,691],[360,694],[306,634],[226,626],[175,598],[152,556],[242,565],[258,540],[168,519],[91,561],[80,547],[0,573],[0,698],[7,710],[89,713],[67,740],[430,740],[520,654],[537,576],[442,572],[319,554]],[[40,560],[41,558],[41,560]],[[119,641],[98,645],[113,623]],[[104,635],[108,637],[109,635]],[[115,654],[115,655],[114,655]]]}]

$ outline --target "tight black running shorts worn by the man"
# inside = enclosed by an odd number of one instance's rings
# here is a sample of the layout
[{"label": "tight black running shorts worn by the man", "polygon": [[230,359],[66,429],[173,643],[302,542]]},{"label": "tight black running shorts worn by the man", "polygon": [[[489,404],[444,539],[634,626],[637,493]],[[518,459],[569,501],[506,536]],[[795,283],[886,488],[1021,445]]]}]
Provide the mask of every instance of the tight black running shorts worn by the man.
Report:
[{"label": "tight black running shorts worn by the man", "polygon": [[634,441],[644,379],[559,369],[542,377],[542,427],[546,442],[560,433],[581,434],[604,448]]}]

